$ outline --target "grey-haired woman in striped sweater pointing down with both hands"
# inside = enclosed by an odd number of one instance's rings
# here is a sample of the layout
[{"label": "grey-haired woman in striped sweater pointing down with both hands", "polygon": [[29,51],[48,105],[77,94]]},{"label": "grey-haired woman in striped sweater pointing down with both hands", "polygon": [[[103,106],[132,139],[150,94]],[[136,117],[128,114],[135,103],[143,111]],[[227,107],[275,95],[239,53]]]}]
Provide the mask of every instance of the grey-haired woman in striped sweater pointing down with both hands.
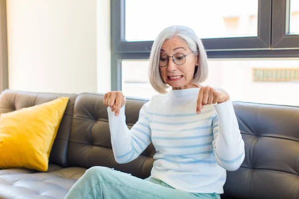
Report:
[{"label": "grey-haired woman in striped sweater pointing down with both hands", "polygon": [[136,159],[152,142],[156,153],[150,177],[93,167],[66,198],[219,199],[226,170],[237,170],[244,160],[244,141],[229,95],[200,85],[207,74],[204,47],[191,29],[162,30],[150,52],[149,80],[163,95],[143,105],[131,130],[122,92],[104,98],[116,161]]}]

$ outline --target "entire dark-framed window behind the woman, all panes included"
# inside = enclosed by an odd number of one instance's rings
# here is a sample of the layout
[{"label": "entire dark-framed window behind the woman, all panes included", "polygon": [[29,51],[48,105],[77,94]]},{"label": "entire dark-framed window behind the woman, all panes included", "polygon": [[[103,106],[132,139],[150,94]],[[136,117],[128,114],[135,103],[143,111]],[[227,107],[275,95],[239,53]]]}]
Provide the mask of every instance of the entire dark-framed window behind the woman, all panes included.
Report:
[{"label": "entire dark-framed window behind the woman, all panes included", "polygon": [[210,69],[204,84],[226,89],[232,100],[299,105],[291,92],[299,87],[298,6],[298,0],[111,0],[111,88],[138,98],[157,94],[148,80],[149,52],[163,28],[179,24],[203,41]]}]

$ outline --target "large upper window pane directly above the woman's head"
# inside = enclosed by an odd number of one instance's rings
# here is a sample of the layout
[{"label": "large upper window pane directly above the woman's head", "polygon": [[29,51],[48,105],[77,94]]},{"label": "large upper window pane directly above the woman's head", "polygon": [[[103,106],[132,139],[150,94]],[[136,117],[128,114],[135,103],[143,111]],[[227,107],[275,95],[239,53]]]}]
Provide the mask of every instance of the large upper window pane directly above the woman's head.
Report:
[{"label": "large upper window pane directly above the woman's head", "polygon": [[126,0],[126,40],[154,40],[170,25],[200,38],[257,36],[258,0]]}]

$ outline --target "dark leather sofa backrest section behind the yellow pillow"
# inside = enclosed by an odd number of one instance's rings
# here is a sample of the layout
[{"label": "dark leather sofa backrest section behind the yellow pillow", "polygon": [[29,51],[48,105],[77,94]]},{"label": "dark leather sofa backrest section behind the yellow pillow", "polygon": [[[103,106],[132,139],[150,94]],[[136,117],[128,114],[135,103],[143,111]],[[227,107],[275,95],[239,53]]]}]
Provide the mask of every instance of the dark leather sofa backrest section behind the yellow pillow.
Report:
[{"label": "dark leather sofa backrest section behind the yellow pillow", "polygon": [[73,107],[77,95],[31,93],[5,90],[0,95],[0,114],[24,107],[41,104],[59,97],[69,97],[69,102],[53,143],[49,163],[67,166],[67,147],[73,118]]}]

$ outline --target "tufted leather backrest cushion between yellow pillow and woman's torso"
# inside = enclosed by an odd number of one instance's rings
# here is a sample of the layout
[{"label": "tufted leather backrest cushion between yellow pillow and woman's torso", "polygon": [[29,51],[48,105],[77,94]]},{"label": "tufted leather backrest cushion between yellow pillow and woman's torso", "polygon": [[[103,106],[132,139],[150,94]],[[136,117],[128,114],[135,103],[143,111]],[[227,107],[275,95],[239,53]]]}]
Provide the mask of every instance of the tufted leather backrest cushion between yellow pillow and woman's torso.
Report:
[{"label": "tufted leather backrest cushion between yellow pillow and woman's torso", "polygon": [[[100,94],[80,94],[74,107],[74,117],[68,148],[68,162],[71,166],[90,168],[104,166],[130,173],[139,178],[150,175],[155,153],[152,144],[136,160],[127,164],[115,161],[107,107],[103,104],[104,96]],[[131,128],[138,120],[139,111],[146,100],[128,99],[126,116]]]}]

